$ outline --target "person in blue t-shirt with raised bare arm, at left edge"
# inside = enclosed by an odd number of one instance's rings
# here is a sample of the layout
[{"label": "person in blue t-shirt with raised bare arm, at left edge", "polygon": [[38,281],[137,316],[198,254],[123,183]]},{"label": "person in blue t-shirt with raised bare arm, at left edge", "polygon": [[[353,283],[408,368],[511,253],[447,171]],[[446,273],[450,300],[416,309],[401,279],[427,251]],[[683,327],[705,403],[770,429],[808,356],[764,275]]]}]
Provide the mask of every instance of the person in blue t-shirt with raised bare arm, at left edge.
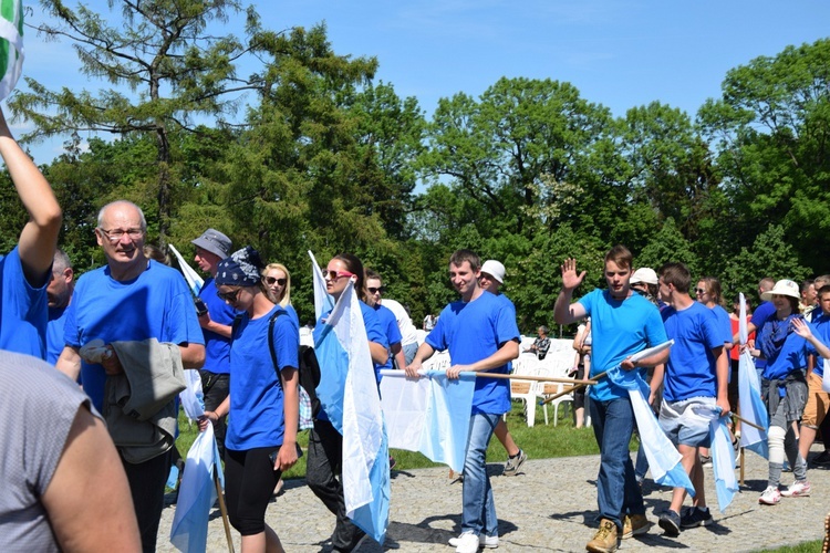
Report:
[{"label": "person in blue t-shirt with raised bare arm, at left edge", "polygon": [[46,285],[61,231],[52,188],[20,149],[0,111],[0,156],[29,213],[18,244],[0,257],[0,349],[46,358]]}]

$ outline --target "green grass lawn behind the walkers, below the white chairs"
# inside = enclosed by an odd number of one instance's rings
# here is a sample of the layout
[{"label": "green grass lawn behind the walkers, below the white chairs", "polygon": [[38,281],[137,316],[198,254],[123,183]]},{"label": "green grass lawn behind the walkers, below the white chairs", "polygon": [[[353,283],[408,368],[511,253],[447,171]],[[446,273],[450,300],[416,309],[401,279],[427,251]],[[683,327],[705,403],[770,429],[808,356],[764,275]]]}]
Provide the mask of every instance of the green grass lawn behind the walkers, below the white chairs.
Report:
[{"label": "green grass lawn behind the walkers, below the white chairs", "polygon": [[[513,408],[507,416],[508,428],[510,434],[513,436],[513,440],[520,448],[527,452],[530,459],[547,459],[552,457],[573,457],[581,455],[596,455],[600,452],[596,447],[596,441],[593,437],[593,430],[591,428],[573,427],[571,410],[570,408],[563,409],[560,405],[559,409],[559,421],[558,426],[553,426],[553,410],[548,409],[550,416],[550,425],[544,425],[544,414],[540,407],[536,410],[536,426],[529,428],[525,421],[525,415],[522,405],[518,401],[513,401]],[[194,424],[190,426],[187,418],[184,416],[184,411],[179,413],[179,437],[176,440],[181,456],[186,456],[193,440],[196,438],[198,427]],[[309,442],[309,432],[302,431],[298,437],[300,447],[305,449]],[[632,450],[636,449],[636,439],[632,439]],[[439,467],[439,463],[432,462],[426,457],[414,451],[404,451],[401,449],[392,449],[392,456],[397,461],[397,469],[419,469],[427,467]],[[501,444],[494,438],[490,442],[490,447],[487,450],[488,462],[505,462],[507,460],[507,453],[501,447]],[[302,478],[305,476],[305,457],[300,458],[300,461],[294,465],[286,474],[284,478]]]}]

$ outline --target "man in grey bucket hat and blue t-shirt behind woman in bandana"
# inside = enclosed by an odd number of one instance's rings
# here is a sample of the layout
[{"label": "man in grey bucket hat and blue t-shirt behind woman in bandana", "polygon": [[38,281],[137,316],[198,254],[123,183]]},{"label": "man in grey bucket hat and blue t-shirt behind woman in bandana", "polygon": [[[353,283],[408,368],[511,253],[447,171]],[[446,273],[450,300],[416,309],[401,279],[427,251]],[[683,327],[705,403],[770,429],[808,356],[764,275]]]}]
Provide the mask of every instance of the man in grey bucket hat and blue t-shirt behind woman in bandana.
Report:
[{"label": "man in grey bucket hat and blue t-shirt behind woman in bandana", "polygon": [[[210,274],[199,291],[196,302],[199,326],[205,336],[205,365],[199,369],[205,410],[216,411],[230,390],[230,331],[236,311],[222,301],[216,290],[216,271],[219,262],[230,255],[231,242],[216,229],[207,229],[190,241],[196,246],[194,261],[199,269]],[[225,432],[227,415],[214,425],[219,455],[225,457]]]}]

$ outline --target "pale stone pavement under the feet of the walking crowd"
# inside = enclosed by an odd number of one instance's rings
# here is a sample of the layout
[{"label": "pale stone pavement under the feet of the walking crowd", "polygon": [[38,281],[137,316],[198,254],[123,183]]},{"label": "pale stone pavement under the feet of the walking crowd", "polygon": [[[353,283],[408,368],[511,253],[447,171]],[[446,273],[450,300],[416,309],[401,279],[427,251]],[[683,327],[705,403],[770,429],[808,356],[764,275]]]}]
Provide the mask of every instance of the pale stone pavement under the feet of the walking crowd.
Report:
[{"label": "pale stone pavement under the feet of the walking crowd", "polygon": [[[812,455],[817,455],[813,449]],[[529,460],[516,477],[501,476],[501,465],[488,466],[496,509],[499,517],[498,551],[584,551],[598,525],[595,479],[599,456]],[[767,463],[749,453],[741,493],[720,513],[714,490],[712,468],[706,471],[706,497],[715,523],[684,531],[678,538],[665,538],[656,525],[658,514],[668,507],[671,490],[646,480],[643,489],[646,514],[654,523],[644,536],[625,540],[622,552],[687,551],[760,551],[792,545],[823,536],[830,470],[812,469],[809,498],[782,498],[776,507],[758,504],[767,486]],[[357,550],[377,553],[384,549],[401,552],[447,552],[454,549],[447,540],[460,528],[461,484],[450,483],[448,469],[394,470],[392,508],[385,547],[366,540]],[[792,482],[791,473],[782,483]],[[688,500],[686,500],[688,504]],[[175,551],[169,529],[175,507],[165,509],[158,536],[158,551]],[[284,491],[269,505],[268,523],[282,540],[288,552],[330,551],[328,538],[334,517],[311,493],[304,480],[289,480]],[[239,534],[231,529],[236,551]],[[219,510],[211,514],[208,551],[227,551]]]}]

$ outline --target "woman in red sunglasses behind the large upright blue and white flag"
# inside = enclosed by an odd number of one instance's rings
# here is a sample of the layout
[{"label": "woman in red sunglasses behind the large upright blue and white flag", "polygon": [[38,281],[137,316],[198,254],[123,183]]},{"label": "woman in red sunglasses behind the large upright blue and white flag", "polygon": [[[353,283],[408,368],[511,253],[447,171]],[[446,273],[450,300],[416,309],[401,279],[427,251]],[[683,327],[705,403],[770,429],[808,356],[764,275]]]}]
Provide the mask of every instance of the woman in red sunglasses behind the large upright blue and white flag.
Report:
[{"label": "woman in red sunglasses behind the large upright blue and white flag", "polygon": [[[374,363],[385,363],[388,359],[388,344],[375,311],[366,301],[365,272],[360,259],[351,253],[341,253],[332,258],[323,270],[325,291],[339,301],[349,282],[354,282],[354,290],[360,299],[360,309],[369,337],[369,349]],[[323,315],[314,326],[314,343],[325,326],[329,313]],[[322,368],[322,367],[321,367]],[[352,551],[363,539],[365,533],[346,517],[341,460],[343,457],[343,436],[332,426],[325,410],[321,409],[314,428],[309,434],[309,456],[305,462],[305,481],[311,491],[320,498],[326,509],[336,517],[334,533],[331,536],[334,551]]]}]

